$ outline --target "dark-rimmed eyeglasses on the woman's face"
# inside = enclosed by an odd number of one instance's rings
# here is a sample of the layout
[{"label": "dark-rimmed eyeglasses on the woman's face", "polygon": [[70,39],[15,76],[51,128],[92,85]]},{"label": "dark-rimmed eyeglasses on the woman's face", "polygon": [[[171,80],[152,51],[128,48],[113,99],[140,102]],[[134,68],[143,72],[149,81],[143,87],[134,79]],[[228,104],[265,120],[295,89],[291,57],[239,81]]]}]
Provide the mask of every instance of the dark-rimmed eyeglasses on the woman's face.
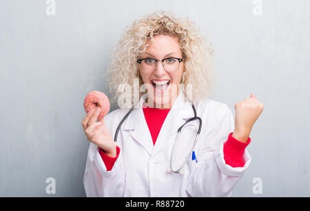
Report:
[{"label": "dark-rimmed eyeglasses on the woman's face", "polygon": [[145,73],[152,72],[156,69],[158,61],[163,63],[163,68],[165,71],[177,71],[180,67],[180,63],[183,61],[182,58],[164,58],[164,59],[155,59],[155,58],[141,58],[136,62],[141,65],[141,69]]}]

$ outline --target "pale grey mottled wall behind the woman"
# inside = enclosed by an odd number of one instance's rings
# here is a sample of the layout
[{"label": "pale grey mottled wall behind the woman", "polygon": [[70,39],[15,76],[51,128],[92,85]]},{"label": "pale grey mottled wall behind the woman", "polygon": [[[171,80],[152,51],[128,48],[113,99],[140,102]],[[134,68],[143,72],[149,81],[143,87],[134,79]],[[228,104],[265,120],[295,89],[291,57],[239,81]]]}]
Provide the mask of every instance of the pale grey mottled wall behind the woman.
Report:
[{"label": "pale grey mottled wall behind the woman", "polygon": [[309,197],[310,1],[154,2],[0,1],[0,196],[85,196],[83,99],[111,96],[104,73],[125,27],[169,10],[214,46],[214,100],[265,105],[233,196]]}]

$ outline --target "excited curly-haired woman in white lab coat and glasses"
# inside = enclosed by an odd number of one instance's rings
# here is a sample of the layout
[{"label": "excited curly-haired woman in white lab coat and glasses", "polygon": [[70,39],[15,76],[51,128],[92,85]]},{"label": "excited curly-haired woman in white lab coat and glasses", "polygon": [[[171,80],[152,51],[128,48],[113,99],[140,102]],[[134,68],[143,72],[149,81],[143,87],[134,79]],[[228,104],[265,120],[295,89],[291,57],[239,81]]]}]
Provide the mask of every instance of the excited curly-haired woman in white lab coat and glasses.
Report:
[{"label": "excited curly-haired woman in white lab coat and glasses", "polygon": [[[87,197],[231,195],[249,166],[245,148],[263,105],[251,94],[235,104],[234,119],[226,104],[207,98],[211,54],[194,23],[167,12],[127,28],[109,69],[112,102],[123,108],[98,122],[100,111],[90,111],[82,121],[90,142],[83,179]],[[138,102],[131,94],[135,78]],[[120,105],[124,99],[130,107]]]}]

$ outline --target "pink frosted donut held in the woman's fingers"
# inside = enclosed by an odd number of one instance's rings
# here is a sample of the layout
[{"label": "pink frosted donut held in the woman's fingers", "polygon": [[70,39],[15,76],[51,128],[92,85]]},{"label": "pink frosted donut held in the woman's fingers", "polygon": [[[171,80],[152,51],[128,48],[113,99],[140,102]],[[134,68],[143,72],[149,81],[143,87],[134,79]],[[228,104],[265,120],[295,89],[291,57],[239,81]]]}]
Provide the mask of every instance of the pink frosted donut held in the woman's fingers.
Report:
[{"label": "pink frosted donut held in the woman's fingers", "polygon": [[107,98],[105,93],[102,93],[101,91],[90,91],[90,93],[87,93],[87,96],[85,97],[84,109],[86,113],[88,113],[97,107],[101,109],[98,116],[98,120],[101,120],[101,118],[107,115],[110,111],[110,100]]}]

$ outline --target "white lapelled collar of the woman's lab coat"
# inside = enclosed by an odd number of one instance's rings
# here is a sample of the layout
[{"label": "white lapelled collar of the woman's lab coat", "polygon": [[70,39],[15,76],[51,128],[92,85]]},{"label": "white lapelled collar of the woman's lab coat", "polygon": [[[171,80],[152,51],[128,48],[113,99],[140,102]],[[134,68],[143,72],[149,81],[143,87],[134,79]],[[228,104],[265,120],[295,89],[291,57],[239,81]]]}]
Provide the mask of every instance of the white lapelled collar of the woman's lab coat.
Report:
[{"label": "white lapelled collar of the woman's lab coat", "polygon": [[154,146],[143,113],[143,103],[146,98],[147,93],[141,96],[141,99],[138,102],[138,107],[132,110],[132,113],[128,115],[127,120],[124,122],[123,130],[130,130],[134,140],[141,144],[149,155],[153,156],[160,151],[165,142],[167,142],[172,135],[176,135],[178,128],[182,126],[188,118],[194,117],[194,111],[192,109],[192,104],[185,100],[185,95],[183,91],[180,90],[176,101],[172,105],[172,108],[163,122],[163,126],[161,127],[161,131],[158,134]]}]

